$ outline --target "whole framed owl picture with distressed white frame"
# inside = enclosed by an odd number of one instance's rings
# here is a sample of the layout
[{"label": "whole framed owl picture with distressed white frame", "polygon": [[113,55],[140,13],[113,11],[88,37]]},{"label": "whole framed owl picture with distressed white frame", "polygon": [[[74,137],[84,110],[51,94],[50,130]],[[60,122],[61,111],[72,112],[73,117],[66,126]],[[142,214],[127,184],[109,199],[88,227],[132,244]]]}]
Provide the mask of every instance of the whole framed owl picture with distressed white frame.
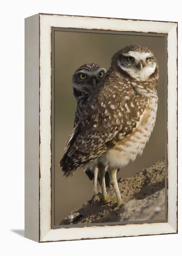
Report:
[{"label": "whole framed owl picture with distressed white frame", "polygon": [[25,237],[177,233],[177,23],[25,19]]}]

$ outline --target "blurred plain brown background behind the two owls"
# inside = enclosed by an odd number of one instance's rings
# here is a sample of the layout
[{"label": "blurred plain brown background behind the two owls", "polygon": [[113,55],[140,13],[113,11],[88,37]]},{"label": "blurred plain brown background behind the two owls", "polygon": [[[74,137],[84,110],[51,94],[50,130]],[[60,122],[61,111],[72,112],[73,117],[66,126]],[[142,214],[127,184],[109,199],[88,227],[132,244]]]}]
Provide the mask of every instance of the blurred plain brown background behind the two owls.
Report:
[{"label": "blurred plain brown background behind the two owls", "polygon": [[54,220],[55,225],[79,209],[92,197],[93,183],[82,169],[77,169],[70,178],[63,178],[58,167],[64,154],[65,141],[74,125],[76,101],[73,96],[71,78],[75,70],[85,63],[98,63],[108,69],[111,57],[119,49],[139,44],[149,47],[159,63],[158,81],[159,105],[156,125],[142,156],[130,162],[119,171],[118,178],[135,175],[142,168],[149,167],[165,155],[165,81],[166,81],[166,45],[165,37],[126,34],[102,34],[88,32],[55,31],[55,125],[54,125]]}]

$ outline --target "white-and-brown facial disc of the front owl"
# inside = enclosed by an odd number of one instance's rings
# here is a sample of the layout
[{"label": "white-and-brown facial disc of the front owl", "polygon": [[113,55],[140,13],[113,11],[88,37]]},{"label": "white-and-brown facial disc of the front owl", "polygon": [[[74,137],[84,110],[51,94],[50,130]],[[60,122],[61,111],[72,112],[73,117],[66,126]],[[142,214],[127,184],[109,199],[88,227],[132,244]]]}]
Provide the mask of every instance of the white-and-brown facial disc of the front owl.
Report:
[{"label": "white-and-brown facial disc of the front owl", "polygon": [[118,66],[137,80],[148,79],[156,70],[156,62],[150,52],[130,51],[122,54]]}]

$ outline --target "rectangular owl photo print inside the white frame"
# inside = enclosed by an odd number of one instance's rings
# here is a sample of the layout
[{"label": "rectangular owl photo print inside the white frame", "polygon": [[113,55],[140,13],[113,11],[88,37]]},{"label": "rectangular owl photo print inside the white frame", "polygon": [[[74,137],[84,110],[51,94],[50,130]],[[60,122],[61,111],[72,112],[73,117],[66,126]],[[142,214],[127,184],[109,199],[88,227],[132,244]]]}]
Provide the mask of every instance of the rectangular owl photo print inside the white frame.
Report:
[{"label": "rectangular owl photo print inside the white frame", "polygon": [[160,34],[52,31],[52,227],[166,222]]}]

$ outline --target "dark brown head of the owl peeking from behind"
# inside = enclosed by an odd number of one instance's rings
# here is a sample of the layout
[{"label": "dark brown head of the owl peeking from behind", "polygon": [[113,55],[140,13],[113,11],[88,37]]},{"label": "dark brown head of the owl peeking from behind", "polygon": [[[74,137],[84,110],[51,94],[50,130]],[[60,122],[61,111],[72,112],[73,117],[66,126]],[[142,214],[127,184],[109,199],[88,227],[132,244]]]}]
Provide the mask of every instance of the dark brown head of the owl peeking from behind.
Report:
[{"label": "dark brown head of the owl peeking from behind", "polygon": [[72,77],[75,97],[93,92],[96,87],[100,86],[105,74],[106,69],[95,63],[84,64],[76,69]]}]

